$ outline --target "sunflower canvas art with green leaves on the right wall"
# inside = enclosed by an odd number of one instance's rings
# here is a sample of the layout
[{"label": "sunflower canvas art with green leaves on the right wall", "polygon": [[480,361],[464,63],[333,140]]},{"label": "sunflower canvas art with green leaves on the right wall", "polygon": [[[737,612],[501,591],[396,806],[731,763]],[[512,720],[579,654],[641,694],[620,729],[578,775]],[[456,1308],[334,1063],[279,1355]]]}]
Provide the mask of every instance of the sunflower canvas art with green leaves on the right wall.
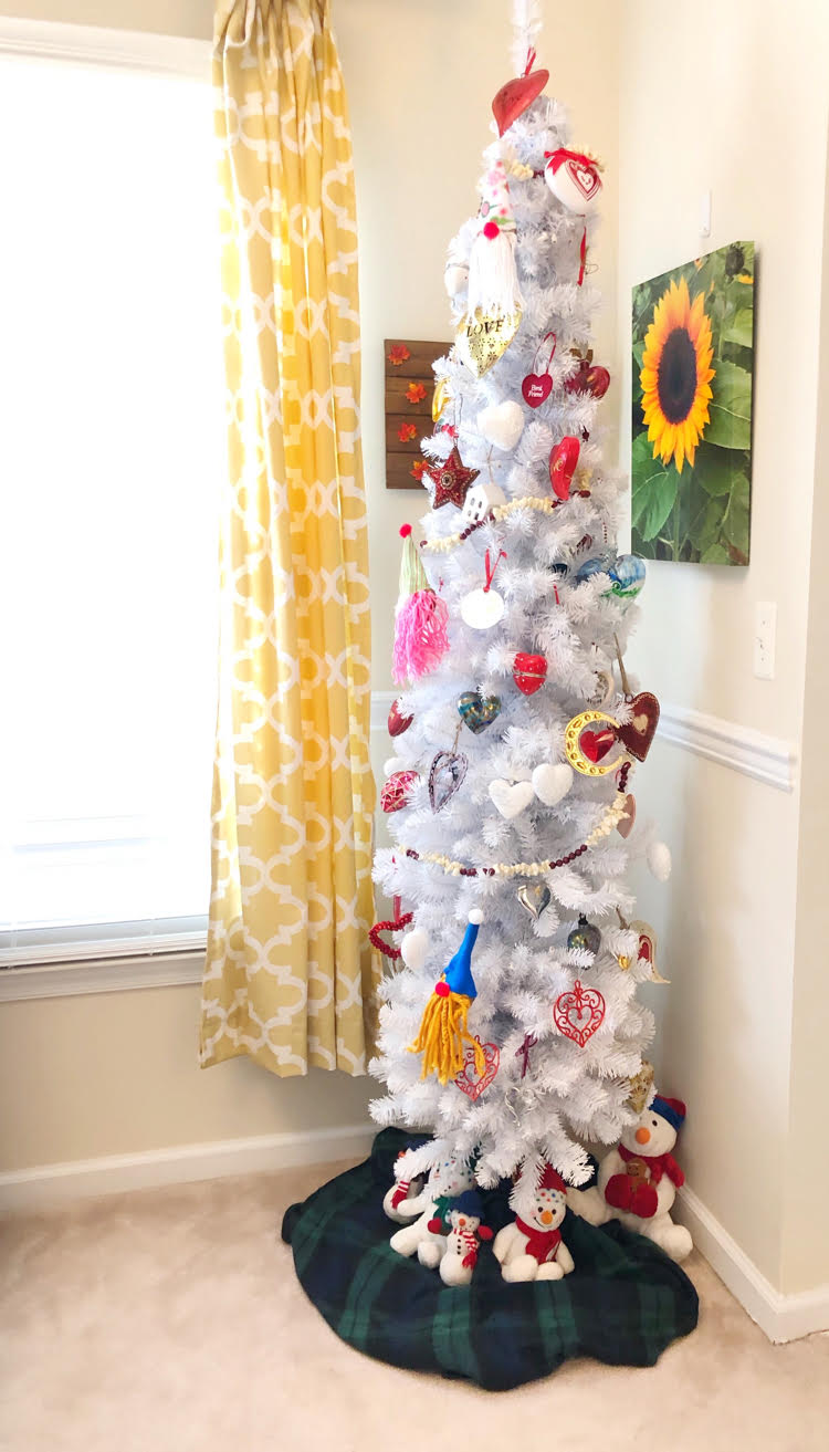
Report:
[{"label": "sunflower canvas art with green leaves on the right wall", "polygon": [[633,289],[632,547],[748,565],[754,242]]}]

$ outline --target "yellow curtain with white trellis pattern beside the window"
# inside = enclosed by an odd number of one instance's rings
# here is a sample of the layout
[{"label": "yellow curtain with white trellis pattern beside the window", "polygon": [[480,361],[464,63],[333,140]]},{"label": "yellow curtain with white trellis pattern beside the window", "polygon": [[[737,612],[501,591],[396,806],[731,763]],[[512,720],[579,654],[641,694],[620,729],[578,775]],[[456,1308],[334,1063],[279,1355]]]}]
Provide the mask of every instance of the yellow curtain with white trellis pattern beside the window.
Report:
[{"label": "yellow curtain with white trellis pattern beside the window", "polygon": [[366,1070],[370,637],[351,136],[327,0],[219,4],[229,481],[202,1064]]}]

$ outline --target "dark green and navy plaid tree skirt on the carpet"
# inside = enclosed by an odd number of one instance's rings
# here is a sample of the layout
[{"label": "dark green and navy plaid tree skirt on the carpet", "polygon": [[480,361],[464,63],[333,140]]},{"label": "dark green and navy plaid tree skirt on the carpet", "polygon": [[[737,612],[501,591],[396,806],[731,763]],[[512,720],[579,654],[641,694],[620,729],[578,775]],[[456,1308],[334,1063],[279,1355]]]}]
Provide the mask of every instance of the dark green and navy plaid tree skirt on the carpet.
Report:
[{"label": "dark green and navy plaid tree skirt on the carpet", "polygon": [[[465,1376],[508,1391],[573,1356],[652,1366],[697,1324],[697,1292],[655,1244],[617,1221],[595,1230],[568,1212],[562,1236],[575,1260],[563,1281],[508,1285],[482,1244],[472,1285],[444,1286],[437,1270],[389,1247],[398,1228],[382,1199],[399,1150],[422,1135],[377,1134],[372,1157],[338,1175],[285,1215],[306,1295],[344,1342],[412,1371]],[[483,1192],[485,1221],[512,1218],[508,1182]]]}]

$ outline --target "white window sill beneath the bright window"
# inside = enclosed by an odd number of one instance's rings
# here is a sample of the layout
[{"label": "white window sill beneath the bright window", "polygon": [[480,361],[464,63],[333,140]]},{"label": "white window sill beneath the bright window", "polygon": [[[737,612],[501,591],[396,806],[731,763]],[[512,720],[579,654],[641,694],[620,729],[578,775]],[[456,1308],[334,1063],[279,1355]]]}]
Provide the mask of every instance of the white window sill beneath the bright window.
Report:
[{"label": "white window sill beneath the bright window", "polygon": [[77,993],[123,993],[200,983],[203,953],[148,954],[135,958],[89,958],[0,971],[0,1003],[20,999],[70,998]]}]

